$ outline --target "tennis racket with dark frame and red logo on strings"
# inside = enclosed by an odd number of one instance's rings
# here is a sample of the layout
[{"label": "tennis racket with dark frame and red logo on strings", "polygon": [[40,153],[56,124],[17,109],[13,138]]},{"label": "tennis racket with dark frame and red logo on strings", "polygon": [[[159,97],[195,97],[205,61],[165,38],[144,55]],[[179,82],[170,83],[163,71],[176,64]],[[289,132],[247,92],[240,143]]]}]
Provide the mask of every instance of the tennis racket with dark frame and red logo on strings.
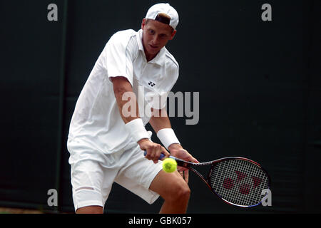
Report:
[{"label": "tennis racket with dark frame and red logo on strings", "polygon": [[[164,157],[161,154],[160,160]],[[195,172],[208,188],[220,199],[238,207],[254,207],[263,201],[270,190],[270,176],[263,167],[245,157],[224,157],[210,162],[186,162],[177,157],[173,158],[178,166]],[[194,167],[207,165],[208,175],[205,177]]]}]

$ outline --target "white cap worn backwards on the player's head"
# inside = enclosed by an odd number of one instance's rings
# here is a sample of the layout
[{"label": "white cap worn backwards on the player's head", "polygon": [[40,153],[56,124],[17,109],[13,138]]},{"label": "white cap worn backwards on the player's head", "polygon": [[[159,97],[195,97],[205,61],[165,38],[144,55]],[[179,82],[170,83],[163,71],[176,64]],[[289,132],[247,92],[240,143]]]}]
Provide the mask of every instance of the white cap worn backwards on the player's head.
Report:
[{"label": "white cap worn backwards on the player's head", "polygon": [[172,26],[175,29],[176,26],[178,25],[178,13],[168,3],[160,3],[160,4],[156,4],[156,5],[151,6],[151,8],[148,9],[145,18],[155,20],[157,18],[158,14],[160,14],[160,13],[166,14],[170,17],[169,23],[166,23],[164,21],[161,21],[161,22],[163,22],[165,24],[169,24],[170,26]]}]

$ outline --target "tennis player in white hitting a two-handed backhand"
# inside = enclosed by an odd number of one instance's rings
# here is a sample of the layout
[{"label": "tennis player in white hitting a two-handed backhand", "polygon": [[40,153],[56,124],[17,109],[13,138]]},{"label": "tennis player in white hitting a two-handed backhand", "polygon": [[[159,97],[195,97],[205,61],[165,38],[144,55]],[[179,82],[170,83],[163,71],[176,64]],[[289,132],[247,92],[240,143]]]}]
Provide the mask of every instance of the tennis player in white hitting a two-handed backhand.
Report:
[{"label": "tennis player in white hitting a two-handed backhand", "polygon": [[[177,25],[177,11],[156,4],[139,31],[115,33],[98,57],[68,134],[76,213],[103,213],[113,182],[149,204],[161,195],[161,213],[186,212],[188,171],[180,167],[179,172],[166,173],[158,162],[161,153],[198,162],[180,145],[163,99],[178,79],[178,63],[165,48]],[[144,115],[144,110],[152,115]],[[152,142],[147,123],[163,146]]]}]

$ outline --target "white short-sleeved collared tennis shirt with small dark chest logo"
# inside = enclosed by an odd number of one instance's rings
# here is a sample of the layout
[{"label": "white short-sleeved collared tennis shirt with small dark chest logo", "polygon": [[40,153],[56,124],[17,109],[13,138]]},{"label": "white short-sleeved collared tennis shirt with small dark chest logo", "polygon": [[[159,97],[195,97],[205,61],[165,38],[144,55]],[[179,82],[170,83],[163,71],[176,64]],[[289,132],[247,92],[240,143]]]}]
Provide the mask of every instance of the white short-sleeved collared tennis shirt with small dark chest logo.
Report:
[{"label": "white short-sleeved collared tennis shirt with small dark chest logo", "polygon": [[81,90],[68,139],[86,140],[105,154],[137,145],[119,113],[111,77],[123,76],[131,83],[144,125],[151,118],[151,107],[165,107],[167,95],[178,79],[179,66],[165,47],[147,62],[142,35],[142,30],[129,29],[111,36]]}]

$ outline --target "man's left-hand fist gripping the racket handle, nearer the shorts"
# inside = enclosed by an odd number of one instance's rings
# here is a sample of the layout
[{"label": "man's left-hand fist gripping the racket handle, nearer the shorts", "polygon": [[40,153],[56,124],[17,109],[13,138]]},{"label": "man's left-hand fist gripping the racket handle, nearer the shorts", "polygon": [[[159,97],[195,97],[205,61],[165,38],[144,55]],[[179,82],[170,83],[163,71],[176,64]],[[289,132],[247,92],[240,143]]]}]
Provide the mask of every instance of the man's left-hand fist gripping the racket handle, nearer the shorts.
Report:
[{"label": "man's left-hand fist gripping the racket handle, nearer the shorts", "polygon": [[145,157],[148,160],[153,160],[154,163],[158,162],[158,158],[161,156],[161,153],[165,155],[164,159],[170,155],[165,147],[162,147],[158,143],[151,142],[151,140],[148,140],[147,138],[139,140],[138,145],[141,147],[141,150],[146,151]]}]

